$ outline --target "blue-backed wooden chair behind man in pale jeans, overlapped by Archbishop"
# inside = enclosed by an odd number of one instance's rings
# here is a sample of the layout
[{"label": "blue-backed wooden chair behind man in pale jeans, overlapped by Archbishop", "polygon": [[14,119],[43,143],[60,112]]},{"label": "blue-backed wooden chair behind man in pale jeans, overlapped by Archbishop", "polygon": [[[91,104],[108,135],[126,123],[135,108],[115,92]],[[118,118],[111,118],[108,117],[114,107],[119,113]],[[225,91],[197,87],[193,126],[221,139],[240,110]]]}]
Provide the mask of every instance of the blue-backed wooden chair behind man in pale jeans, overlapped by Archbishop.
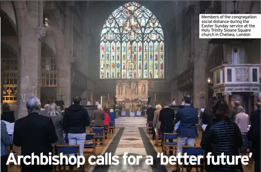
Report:
[{"label": "blue-backed wooden chair behind man in pale jeans, overlapped by Archbishop", "polygon": [[[60,154],[63,153],[63,155],[69,155],[69,154],[80,154],[80,145],[63,145],[63,144],[59,144],[56,145],[57,146],[57,150],[58,150],[58,156],[59,156],[59,160],[60,160]],[[74,166],[77,165],[74,164]],[[62,164],[61,162],[57,165],[58,166],[58,172],[61,172],[61,166],[70,166],[70,164],[66,165],[65,162],[63,161]],[[77,169],[79,170],[79,168]],[[53,165],[53,171],[55,171],[55,165]]]}]

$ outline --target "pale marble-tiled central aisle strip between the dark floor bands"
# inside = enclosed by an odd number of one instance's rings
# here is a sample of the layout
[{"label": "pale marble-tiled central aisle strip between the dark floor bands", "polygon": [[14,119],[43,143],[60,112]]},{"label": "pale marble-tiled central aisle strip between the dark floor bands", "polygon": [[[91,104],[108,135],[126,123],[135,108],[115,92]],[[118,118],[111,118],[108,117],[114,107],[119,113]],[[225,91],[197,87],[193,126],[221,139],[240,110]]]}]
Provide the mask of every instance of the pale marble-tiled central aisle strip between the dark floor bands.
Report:
[{"label": "pale marble-tiled central aisle strip between the dark floor bands", "polygon": [[[123,164],[123,154],[127,152],[128,156],[142,156],[139,165]],[[120,138],[119,144],[114,155],[119,156],[119,165],[110,165],[109,172],[151,172],[150,165],[145,164],[146,150],[140,135],[139,128],[125,128]]]}]

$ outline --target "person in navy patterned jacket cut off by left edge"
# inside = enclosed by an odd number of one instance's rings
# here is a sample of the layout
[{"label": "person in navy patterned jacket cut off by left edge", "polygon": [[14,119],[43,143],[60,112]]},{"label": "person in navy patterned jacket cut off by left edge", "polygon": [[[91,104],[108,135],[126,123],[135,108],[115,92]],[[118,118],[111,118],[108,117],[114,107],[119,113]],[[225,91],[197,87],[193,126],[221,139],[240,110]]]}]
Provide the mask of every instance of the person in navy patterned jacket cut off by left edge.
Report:
[{"label": "person in navy patterned jacket cut off by left edge", "polygon": [[13,144],[13,135],[9,135],[7,132],[6,124],[1,120],[1,170],[2,172],[7,172],[8,165],[6,165],[8,160],[8,145]]}]

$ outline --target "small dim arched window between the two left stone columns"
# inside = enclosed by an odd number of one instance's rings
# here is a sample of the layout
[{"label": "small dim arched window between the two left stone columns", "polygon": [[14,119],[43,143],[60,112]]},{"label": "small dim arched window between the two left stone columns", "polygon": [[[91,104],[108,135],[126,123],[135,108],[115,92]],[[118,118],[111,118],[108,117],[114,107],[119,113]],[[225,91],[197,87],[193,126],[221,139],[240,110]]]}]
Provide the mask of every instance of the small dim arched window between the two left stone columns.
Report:
[{"label": "small dim arched window between the two left stone columns", "polygon": [[41,87],[56,87],[56,55],[44,42],[41,44]]}]

